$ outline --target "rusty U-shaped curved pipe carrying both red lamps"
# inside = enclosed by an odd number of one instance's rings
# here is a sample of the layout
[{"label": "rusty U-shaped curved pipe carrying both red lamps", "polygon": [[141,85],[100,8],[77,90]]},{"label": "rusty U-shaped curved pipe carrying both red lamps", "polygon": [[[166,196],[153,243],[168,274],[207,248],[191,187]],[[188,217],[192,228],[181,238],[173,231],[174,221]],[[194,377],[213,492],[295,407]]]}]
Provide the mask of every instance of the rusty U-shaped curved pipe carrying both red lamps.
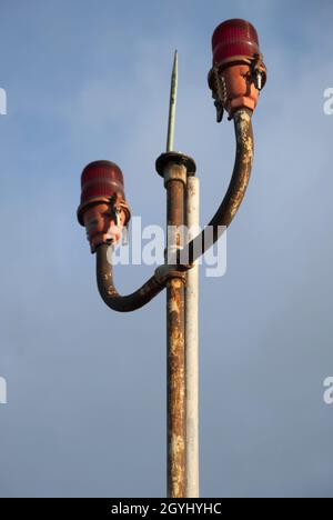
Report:
[{"label": "rusty U-shaped curved pipe carrying both red lamps", "polygon": [[[236,138],[235,162],[224,199],[208,224],[213,229],[213,240],[211,242],[205,240],[205,234],[208,233],[206,228],[204,228],[203,231],[180,252],[181,258],[186,258],[189,260],[188,263],[192,263],[196,260],[200,254],[203,254],[203,252],[219,239],[223,231],[221,227],[228,227],[231,223],[241,206],[250,180],[253,160],[251,116],[252,111],[248,109],[240,109],[233,116]],[[119,312],[133,311],[143,307],[164,289],[168,278],[160,279],[153,276],[140,289],[132,292],[132,294],[120,296],[113,283],[112,266],[108,261],[108,249],[109,246],[102,244],[97,250],[98,288],[108,307]],[[182,269],[184,269],[184,267],[182,267]]]}]

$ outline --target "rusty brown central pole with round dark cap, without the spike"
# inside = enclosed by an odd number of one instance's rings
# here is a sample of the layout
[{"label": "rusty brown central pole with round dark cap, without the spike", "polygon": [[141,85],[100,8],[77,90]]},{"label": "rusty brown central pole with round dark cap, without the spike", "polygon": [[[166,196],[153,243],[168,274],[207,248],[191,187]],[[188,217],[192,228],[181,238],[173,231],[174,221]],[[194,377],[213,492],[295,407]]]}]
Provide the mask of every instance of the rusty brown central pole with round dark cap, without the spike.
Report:
[{"label": "rusty brown central pole with round dark cap, without the spike", "polygon": [[186,497],[186,380],[184,286],[186,266],[176,266],[183,247],[185,188],[195,172],[193,159],[179,152],[162,153],[157,170],[167,189],[167,367],[168,367],[168,497]]}]

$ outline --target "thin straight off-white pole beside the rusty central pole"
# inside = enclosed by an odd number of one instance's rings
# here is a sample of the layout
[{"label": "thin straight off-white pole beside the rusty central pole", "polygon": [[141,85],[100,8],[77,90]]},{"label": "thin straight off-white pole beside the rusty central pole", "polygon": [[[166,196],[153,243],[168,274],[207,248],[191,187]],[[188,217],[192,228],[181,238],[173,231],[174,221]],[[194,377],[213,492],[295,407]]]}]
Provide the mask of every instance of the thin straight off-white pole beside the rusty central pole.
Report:
[{"label": "thin straight off-white pole beside the rusty central pole", "polygon": [[[188,177],[186,226],[189,240],[199,232],[200,182]],[[185,288],[186,372],[186,497],[198,498],[199,479],[199,264],[186,273]]]}]

